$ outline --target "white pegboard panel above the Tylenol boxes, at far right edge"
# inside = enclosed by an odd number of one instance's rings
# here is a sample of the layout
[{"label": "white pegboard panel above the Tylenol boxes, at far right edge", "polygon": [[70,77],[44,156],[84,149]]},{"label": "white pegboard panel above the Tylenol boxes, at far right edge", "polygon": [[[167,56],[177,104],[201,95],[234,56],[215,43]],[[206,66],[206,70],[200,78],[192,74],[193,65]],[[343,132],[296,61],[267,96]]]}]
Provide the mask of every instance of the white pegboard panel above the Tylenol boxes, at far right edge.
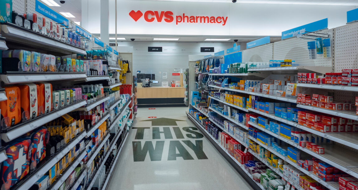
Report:
[{"label": "white pegboard panel above the Tylenol boxes, at far right edge", "polygon": [[334,71],[358,68],[358,23],[335,28]]}]

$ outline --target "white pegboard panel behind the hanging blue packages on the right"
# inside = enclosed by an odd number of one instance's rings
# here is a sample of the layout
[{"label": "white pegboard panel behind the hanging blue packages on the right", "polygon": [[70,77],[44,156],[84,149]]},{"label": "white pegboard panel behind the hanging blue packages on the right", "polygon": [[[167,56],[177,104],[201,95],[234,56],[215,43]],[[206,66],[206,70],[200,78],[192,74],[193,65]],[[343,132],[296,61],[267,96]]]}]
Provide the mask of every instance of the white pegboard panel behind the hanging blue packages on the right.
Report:
[{"label": "white pegboard panel behind the hanging blue packages on the right", "polygon": [[[319,33],[329,34],[332,43],[334,42],[334,29],[320,31]],[[291,38],[275,42],[274,60],[294,60],[300,66],[332,67],[333,58],[325,58],[323,54],[317,54],[315,60],[309,58],[307,48],[307,42],[309,41],[314,40]]]}]

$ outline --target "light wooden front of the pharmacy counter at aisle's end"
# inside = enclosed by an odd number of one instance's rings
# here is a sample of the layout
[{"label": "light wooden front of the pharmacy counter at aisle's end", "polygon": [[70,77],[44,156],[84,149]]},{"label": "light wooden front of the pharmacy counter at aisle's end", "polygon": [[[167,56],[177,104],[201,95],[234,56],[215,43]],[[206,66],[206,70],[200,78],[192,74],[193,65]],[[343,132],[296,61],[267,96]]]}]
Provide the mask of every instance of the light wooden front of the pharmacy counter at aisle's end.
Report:
[{"label": "light wooden front of the pharmacy counter at aisle's end", "polygon": [[185,98],[184,87],[138,87],[137,98]]}]

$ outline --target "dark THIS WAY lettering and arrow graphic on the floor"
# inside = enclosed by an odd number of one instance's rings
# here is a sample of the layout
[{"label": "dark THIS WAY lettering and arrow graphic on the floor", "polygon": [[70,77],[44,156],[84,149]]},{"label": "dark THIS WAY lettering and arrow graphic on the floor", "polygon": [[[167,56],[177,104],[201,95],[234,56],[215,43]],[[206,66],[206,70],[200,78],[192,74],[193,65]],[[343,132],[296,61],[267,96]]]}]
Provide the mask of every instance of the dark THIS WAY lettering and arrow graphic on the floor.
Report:
[{"label": "dark THIS WAY lettering and arrow graphic on the floor", "polygon": [[203,140],[200,140],[204,136],[196,127],[152,127],[178,126],[177,122],[185,122],[171,118],[155,118],[141,122],[149,121],[151,126],[132,128],[136,129],[135,141],[132,142],[135,162],[145,161],[148,154],[150,161],[161,161],[165,151],[168,152],[166,160],[176,160],[177,157],[182,157],[183,160],[194,160],[194,157],[198,160],[208,159],[203,151]]}]

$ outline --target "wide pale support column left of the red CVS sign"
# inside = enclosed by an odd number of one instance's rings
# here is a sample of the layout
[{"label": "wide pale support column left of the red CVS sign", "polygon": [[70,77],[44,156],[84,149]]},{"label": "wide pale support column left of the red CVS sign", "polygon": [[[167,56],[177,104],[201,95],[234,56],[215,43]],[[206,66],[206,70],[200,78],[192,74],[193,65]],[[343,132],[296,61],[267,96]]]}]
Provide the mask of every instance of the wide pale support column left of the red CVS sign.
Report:
[{"label": "wide pale support column left of the red CVS sign", "polygon": [[109,0],[101,0],[101,41],[107,45],[110,44],[109,9]]}]

